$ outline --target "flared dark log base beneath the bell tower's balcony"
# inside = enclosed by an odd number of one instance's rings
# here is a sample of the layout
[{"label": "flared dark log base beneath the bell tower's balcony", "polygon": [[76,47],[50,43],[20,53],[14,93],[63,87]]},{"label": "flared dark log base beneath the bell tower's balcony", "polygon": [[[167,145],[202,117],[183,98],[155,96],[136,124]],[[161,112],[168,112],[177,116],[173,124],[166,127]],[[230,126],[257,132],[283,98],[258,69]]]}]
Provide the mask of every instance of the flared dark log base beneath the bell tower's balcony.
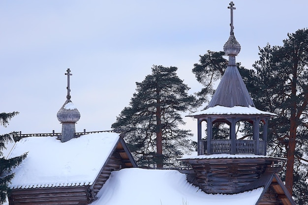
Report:
[{"label": "flared dark log base beneath the bell tower's balcony", "polygon": [[237,194],[259,179],[277,158],[183,159],[194,171],[198,186],[206,193]]}]

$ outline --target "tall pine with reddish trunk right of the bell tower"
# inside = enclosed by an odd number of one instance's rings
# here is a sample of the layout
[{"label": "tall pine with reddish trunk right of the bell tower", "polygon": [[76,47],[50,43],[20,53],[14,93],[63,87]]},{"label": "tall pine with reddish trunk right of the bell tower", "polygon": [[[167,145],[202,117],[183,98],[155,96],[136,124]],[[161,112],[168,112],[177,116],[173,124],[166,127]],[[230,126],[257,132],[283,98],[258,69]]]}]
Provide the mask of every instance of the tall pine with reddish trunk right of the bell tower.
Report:
[{"label": "tall pine with reddish trunk right of the bell tower", "polygon": [[305,161],[303,150],[308,145],[308,30],[288,34],[283,46],[267,45],[259,56],[254,68],[266,92],[267,106],[279,116],[280,123],[273,128],[278,143],[285,146],[285,186],[292,195],[295,160]]}]

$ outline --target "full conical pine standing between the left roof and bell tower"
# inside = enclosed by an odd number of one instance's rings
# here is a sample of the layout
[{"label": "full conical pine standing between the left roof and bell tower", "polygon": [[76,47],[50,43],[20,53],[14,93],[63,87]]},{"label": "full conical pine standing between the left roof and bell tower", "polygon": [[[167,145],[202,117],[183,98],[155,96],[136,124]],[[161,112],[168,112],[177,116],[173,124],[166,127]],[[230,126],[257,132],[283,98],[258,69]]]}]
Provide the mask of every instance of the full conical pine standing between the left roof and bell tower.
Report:
[{"label": "full conical pine standing between the left roof and bell tower", "polygon": [[112,128],[125,133],[125,141],[140,166],[172,166],[192,151],[190,130],[181,112],[196,107],[196,99],[177,76],[177,67],[154,65],[152,74],[136,83],[136,93]]}]

